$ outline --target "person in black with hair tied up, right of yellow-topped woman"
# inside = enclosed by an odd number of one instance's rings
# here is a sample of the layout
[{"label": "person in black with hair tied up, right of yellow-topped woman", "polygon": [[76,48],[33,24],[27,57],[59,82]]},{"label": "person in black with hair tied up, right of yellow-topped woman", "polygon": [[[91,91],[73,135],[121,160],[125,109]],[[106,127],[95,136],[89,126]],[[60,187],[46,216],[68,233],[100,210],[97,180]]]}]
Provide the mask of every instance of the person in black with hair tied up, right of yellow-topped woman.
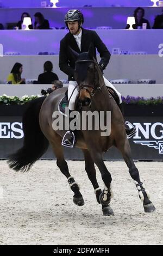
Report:
[{"label": "person in black with hair tied up, right of yellow-topped woman", "polygon": [[38,83],[52,84],[54,80],[58,80],[58,76],[52,72],[53,64],[49,60],[43,64],[43,70],[44,72],[38,77]]}]

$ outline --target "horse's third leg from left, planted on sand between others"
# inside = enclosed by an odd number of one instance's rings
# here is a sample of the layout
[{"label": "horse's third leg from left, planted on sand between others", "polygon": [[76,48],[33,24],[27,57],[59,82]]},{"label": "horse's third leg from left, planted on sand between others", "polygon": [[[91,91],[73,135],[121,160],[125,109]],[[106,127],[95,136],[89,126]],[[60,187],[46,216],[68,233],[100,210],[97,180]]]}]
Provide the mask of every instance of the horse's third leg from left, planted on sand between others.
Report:
[{"label": "horse's third leg from left, planted on sand between others", "polygon": [[104,161],[102,159],[102,154],[96,152],[95,150],[90,150],[91,156],[95,164],[97,165],[99,171],[102,175],[102,180],[104,182],[104,189],[99,196],[99,201],[102,204],[102,211],[104,215],[114,215],[109,203],[111,201],[111,174],[109,173],[108,169],[106,168]]}]

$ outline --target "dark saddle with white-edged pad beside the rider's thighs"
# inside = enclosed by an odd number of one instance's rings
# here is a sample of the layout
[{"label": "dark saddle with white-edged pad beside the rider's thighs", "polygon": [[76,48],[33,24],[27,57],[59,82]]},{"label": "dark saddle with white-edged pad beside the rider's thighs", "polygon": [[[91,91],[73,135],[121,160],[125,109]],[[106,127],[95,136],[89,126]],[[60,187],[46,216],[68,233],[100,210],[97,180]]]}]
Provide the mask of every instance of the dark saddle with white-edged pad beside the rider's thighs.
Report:
[{"label": "dark saddle with white-edged pad beside the rider's thighs", "polygon": [[[109,94],[111,95],[111,97],[115,100],[115,102],[117,103],[117,105],[120,105],[120,100],[119,97],[117,95],[117,93],[114,91],[114,89],[110,88],[110,87],[106,87]],[[58,105],[58,110],[62,115],[66,115],[65,114],[65,107],[68,107],[68,89],[65,92],[65,96],[62,97],[62,99],[59,102]],[[76,100],[76,110],[78,111],[79,106],[78,106],[78,98]]]}]

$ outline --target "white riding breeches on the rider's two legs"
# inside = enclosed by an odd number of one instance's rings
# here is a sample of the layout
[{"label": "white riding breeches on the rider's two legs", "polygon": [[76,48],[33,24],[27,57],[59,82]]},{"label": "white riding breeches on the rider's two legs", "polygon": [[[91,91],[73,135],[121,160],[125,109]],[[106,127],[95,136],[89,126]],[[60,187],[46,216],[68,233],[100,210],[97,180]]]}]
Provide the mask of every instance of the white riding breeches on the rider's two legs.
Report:
[{"label": "white riding breeches on the rider's two legs", "polygon": [[[122,103],[121,94],[117,91],[117,89],[104,76],[103,76],[103,78],[104,78],[104,82],[105,82],[106,87],[111,87],[112,89],[115,90],[115,92],[117,93],[117,95],[120,99],[120,104],[121,104]],[[69,83],[68,83],[68,100],[70,100],[70,101],[69,101],[69,104],[68,104],[68,108],[70,110],[74,110],[76,97],[78,95],[77,88],[74,90],[74,87],[76,87],[76,86],[77,86],[76,81],[69,81]],[[74,90],[74,92],[73,92],[73,90]],[[73,92],[73,95],[72,95],[72,92]],[[71,99],[70,99],[70,97],[71,97]]]}]

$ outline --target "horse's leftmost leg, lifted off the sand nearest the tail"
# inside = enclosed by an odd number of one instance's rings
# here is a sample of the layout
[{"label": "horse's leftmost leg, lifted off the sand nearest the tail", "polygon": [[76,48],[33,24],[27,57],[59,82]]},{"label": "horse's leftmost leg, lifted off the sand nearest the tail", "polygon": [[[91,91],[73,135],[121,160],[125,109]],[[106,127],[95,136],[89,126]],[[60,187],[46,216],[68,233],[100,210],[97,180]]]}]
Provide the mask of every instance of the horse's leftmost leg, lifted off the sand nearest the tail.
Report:
[{"label": "horse's leftmost leg, lifted off the sand nearest the tail", "polygon": [[66,176],[68,184],[70,185],[71,190],[74,192],[74,196],[73,196],[74,204],[78,206],[83,206],[84,199],[82,194],[79,191],[80,187],[77,184],[77,182],[74,180],[74,178],[70,175],[67,162],[64,159],[64,153],[61,147],[61,138],[58,135],[55,137],[57,137],[57,140],[55,139],[55,141],[50,141],[50,143],[52,145],[53,152],[57,157],[57,166],[61,170],[61,173]]}]

